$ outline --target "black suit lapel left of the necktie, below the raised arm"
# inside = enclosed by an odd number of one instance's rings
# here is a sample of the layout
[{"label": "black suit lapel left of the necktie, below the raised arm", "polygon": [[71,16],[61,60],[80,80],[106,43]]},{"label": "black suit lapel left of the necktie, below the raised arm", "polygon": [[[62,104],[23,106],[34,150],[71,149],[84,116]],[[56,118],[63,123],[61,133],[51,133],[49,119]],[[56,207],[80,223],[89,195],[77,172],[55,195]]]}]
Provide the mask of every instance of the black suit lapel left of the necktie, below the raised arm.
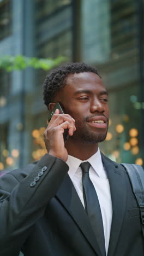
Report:
[{"label": "black suit lapel left of the necktie, below the raised arm", "polygon": [[71,182],[69,175],[65,177],[56,196],[62,202],[63,206],[67,209],[77,226],[79,226],[81,232],[86,237],[89,244],[93,247],[94,251],[99,256],[102,256],[97,243],[97,238],[94,235],[85,209],[80,201],[79,196],[77,195],[77,192],[74,188],[73,183]]}]

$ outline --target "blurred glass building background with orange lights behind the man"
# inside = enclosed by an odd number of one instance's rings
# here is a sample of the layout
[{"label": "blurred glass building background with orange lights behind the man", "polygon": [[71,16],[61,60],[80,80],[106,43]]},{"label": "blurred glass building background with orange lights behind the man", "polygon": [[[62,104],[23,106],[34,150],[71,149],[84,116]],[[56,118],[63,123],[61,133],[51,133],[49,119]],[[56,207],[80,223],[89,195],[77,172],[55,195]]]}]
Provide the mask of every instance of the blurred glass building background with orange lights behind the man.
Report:
[{"label": "blurred glass building background with orange lights behind the man", "polygon": [[[97,67],[110,106],[109,131],[100,149],[117,162],[140,165],[143,7],[143,0],[0,0],[0,59],[62,56],[57,65],[80,61]],[[43,82],[50,70],[18,69],[0,68],[0,175],[46,153]]]}]

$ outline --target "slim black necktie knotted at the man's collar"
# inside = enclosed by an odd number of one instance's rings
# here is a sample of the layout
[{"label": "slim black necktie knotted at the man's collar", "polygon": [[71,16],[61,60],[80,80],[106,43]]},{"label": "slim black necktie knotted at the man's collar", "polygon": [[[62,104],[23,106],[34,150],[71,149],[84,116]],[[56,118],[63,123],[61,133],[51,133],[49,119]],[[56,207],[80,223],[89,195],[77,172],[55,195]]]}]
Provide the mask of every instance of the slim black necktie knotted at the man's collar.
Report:
[{"label": "slim black necktie knotted at the man's collar", "polygon": [[99,247],[103,255],[105,255],[103,219],[101,216],[97,192],[95,191],[94,185],[89,178],[90,166],[91,164],[89,164],[89,162],[82,162],[80,165],[82,169],[83,199],[85,202],[85,210],[91,222],[94,234],[97,237]]}]

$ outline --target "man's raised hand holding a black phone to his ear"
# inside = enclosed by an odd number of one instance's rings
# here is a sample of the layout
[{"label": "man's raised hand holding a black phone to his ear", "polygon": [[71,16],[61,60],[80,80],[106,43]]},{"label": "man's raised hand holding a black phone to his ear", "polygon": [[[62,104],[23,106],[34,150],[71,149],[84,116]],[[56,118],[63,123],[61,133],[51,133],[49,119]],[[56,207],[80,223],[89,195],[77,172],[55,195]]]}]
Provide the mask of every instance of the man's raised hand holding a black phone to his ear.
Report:
[{"label": "man's raised hand holding a black phone to his ear", "polygon": [[44,132],[44,141],[47,152],[64,161],[68,159],[68,152],[65,148],[65,142],[69,136],[73,136],[75,120],[69,115],[63,113],[59,103],[55,104],[52,112],[49,114],[49,125]]}]

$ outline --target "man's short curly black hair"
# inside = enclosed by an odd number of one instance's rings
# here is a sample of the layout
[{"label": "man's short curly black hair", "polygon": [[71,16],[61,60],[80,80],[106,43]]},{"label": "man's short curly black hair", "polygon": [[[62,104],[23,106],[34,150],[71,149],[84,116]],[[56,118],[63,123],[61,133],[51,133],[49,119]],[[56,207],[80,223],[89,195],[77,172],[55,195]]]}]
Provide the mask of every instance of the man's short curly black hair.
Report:
[{"label": "man's short curly black hair", "polygon": [[43,95],[44,103],[48,109],[49,103],[53,101],[53,97],[55,96],[56,92],[61,90],[61,88],[64,88],[66,85],[66,79],[68,75],[81,72],[93,72],[99,75],[97,68],[93,66],[89,66],[82,62],[71,62],[54,69],[50,74],[46,76],[44,81]]}]

